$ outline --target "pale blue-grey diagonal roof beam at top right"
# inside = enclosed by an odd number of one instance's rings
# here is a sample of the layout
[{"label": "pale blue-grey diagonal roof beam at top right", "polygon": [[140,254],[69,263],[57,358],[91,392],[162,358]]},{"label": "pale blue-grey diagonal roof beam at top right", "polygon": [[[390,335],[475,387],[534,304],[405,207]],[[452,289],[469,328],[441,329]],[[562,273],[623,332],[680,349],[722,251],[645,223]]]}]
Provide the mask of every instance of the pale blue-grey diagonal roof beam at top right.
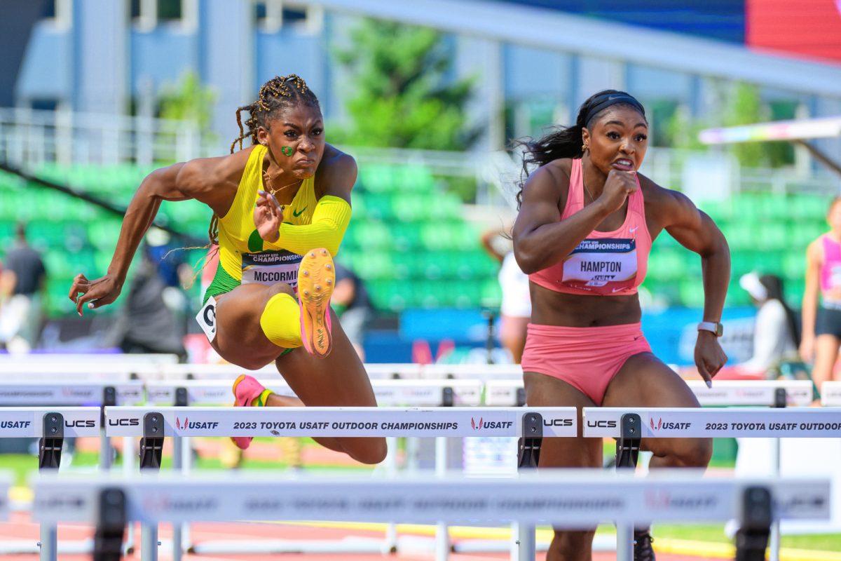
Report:
[{"label": "pale blue-grey diagonal roof beam at top right", "polygon": [[547,50],[841,98],[841,66],[741,45],[482,0],[309,0],[337,12],[426,25]]}]

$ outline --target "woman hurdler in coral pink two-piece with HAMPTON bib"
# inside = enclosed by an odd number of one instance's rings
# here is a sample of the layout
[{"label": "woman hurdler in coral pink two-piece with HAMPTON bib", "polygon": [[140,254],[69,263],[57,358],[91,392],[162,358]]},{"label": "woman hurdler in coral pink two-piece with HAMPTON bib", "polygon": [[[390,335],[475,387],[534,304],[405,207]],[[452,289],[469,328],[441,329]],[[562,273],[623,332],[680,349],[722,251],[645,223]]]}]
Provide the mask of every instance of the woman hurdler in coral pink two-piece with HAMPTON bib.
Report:
[{"label": "woman hurdler in coral pink two-piece with HAMPTON bib", "polygon": [[[708,384],[727,361],[718,344],[730,279],[727,241],[680,193],[637,173],[648,147],[643,106],[624,92],[596,93],[576,124],[526,145],[517,262],[529,273],[532,323],[522,367],[531,406],[698,407],[689,387],[655,357],[640,329],[637,287],[661,231],[701,256],[706,294],[695,359]],[[712,444],[643,440],[651,467],[704,468]],[[600,439],[551,438],[542,467],[599,467]],[[641,505],[642,508],[642,505]],[[595,529],[555,532],[548,561],[590,559]],[[635,558],[653,559],[648,530]]]}]

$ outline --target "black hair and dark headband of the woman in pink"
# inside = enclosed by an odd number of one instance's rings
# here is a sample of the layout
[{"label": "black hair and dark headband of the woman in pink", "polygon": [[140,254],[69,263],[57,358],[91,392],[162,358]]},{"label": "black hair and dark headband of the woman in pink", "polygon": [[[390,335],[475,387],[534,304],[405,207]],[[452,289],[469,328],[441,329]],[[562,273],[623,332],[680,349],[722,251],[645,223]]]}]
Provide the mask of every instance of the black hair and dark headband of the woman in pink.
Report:
[{"label": "black hair and dark headband of the woman in pink", "polygon": [[586,127],[590,130],[593,121],[605,112],[607,108],[624,106],[632,108],[643,115],[645,109],[642,103],[630,94],[618,90],[602,90],[594,93],[579,108],[575,124],[569,127],[558,127],[539,140],[518,140],[515,146],[523,146],[523,161],[519,187],[517,192],[517,208],[520,208],[523,198],[523,187],[532,167],[541,167],[560,158],[580,158],[584,156],[581,150],[581,131]]}]

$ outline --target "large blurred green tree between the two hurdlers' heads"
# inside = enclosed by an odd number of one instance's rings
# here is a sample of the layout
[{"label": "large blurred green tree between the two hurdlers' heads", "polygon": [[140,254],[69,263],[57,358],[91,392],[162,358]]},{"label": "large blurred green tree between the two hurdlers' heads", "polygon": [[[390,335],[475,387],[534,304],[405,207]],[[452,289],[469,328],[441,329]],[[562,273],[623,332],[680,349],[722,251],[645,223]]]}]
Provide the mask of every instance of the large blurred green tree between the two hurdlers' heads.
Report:
[{"label": "large blurred green tree between the two hurdlers' heads", "polygon": [[363,19],[336,59],[352,74],[351,123],[331,140],[355,146],[467,149],[479,136],[465,106],[472,79],[452,80],[452,53],[434,29]]}]

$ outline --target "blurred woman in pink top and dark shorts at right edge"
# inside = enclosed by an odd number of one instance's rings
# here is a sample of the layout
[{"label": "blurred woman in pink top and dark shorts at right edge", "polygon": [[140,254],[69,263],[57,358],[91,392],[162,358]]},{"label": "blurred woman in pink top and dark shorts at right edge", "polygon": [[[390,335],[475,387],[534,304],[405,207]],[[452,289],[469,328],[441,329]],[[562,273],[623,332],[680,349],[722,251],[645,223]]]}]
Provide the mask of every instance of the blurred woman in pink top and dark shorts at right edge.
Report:
[{"label": "blurred woman in pink top and dark shorts at right edge", "polygon": [[[809,244],[806,253],[806,291],[803,293],[803,339],[800,353],[811,363],[818,391],[833,379],[841,345],[841,197],[829,205],[829,230]],[[821,295],[818,308],[817,295]]]}]

